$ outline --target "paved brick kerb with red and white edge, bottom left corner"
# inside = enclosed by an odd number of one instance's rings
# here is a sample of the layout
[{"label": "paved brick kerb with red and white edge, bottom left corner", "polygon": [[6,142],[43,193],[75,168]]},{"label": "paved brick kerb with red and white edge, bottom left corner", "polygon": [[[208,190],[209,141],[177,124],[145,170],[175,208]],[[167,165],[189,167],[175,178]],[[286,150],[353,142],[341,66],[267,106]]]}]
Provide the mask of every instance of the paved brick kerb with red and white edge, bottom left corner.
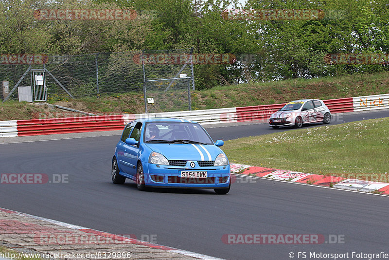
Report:
[{"label": "paved brick kerb with red and white edge, bottom left corner", "polygon": [[[100,259],[174,259],[174,260],[219,260],[168,246],[149,243],[121,235],[45,219],[17,211],[0,208],[0,245],[22,253],[52,254],[44,259],[99,259],[86,257],[89,253],[111,254]],[[129,253],[126,257],[115,254]],[[56,258],[54,254],[62,254]],[[83,254],[83,258],[71,258]],[[63,257],[65,256],[65,257]],[[68,256],[68,257],[66,257]],[[47,257],[47,256],[46,256]]]}]

